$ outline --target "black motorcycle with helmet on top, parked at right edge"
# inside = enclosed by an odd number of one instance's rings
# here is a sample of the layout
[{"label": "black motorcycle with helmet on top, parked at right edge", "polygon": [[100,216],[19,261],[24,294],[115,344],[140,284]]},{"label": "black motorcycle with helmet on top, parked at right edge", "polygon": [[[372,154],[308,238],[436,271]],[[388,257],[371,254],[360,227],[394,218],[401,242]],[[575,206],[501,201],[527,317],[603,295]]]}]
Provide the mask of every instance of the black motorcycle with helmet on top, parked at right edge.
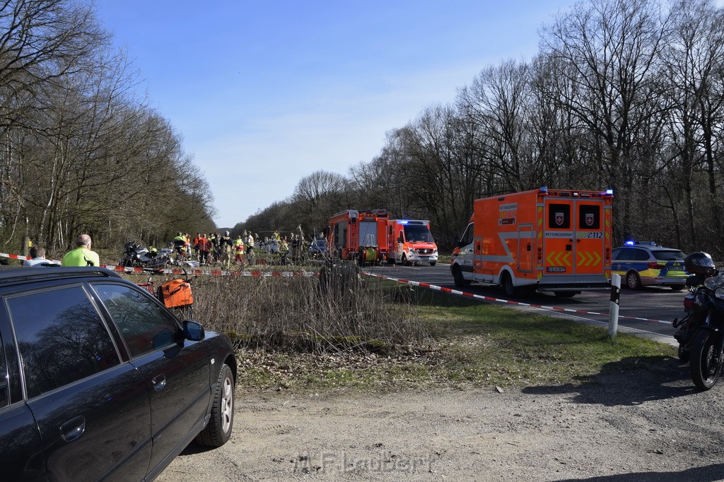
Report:
[{"label": "black motorcycle with helmet on top, parked at right edge", "polygon": [[722,371],[724,351],[724,273],[720,273],[709,254],[689,254],[684,267],[692,276],[686,280],[693,291],[684,298],[687,312],[675,319],[674,337],[679,342],[678,356],[689,361],[691,380],[701,390],[713,387]]}]

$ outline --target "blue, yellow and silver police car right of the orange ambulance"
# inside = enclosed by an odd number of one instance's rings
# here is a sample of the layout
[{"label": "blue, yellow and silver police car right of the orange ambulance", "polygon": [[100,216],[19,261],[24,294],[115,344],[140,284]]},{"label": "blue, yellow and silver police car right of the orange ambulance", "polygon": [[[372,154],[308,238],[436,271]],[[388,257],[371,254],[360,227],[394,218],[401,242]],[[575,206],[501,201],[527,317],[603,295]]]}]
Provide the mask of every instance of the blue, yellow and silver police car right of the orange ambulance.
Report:
[{"label": "blue, yellow and silver police car right of the orange ambulance", "polygon": [[683,268],[686,254],[680,249],[663,248],[654,241],[626,241],[611,254],[611,270],[623,278],[626,287],[669,286],[678,291],[686,286],[689,274]]}]

